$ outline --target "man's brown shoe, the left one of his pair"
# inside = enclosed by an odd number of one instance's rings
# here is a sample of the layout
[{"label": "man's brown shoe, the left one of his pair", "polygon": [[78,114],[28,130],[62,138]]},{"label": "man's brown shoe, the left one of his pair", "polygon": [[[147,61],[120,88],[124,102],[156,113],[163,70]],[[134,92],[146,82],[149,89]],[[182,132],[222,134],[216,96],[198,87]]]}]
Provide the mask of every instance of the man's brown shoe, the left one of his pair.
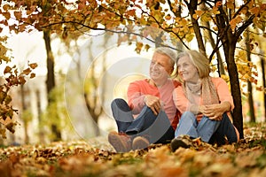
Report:
[{"label": "man's brown shoe, the left one of his pair", "polygon": [[110,132],[108,134],[108,142],[116,152],[128,152],[131,150],[131,139],[129,135]]}]

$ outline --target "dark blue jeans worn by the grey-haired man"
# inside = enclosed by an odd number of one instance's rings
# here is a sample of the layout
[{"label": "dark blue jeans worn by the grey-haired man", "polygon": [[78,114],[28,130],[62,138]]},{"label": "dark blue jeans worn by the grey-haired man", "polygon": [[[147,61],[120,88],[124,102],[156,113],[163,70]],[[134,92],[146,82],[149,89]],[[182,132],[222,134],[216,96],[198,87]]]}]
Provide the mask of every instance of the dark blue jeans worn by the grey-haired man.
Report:
[{"label": "dark blue jeans worn by the grey-haired man", "polygon": [[165,112],[159,112],[156,116],[145,106],[134,119],[129,105],[121,98],[114,99],[111,108],[118,132],[131,135],[132,138],[142,135],[151,143],[167,143],[174,138],[175,130]]}]

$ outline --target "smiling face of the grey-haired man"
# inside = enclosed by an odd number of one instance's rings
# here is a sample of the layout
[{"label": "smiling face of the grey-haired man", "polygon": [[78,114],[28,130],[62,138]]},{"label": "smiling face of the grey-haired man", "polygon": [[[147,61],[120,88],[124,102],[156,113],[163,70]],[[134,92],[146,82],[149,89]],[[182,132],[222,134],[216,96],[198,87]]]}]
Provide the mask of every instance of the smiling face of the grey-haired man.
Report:
[{"label": "smiling face of the grey-haired man", "polygon": [[154,81],[165,80],[173,72],[174,67],[171,65],[170,59],[167,55],[154,53],[150,65],[150,77]]}]

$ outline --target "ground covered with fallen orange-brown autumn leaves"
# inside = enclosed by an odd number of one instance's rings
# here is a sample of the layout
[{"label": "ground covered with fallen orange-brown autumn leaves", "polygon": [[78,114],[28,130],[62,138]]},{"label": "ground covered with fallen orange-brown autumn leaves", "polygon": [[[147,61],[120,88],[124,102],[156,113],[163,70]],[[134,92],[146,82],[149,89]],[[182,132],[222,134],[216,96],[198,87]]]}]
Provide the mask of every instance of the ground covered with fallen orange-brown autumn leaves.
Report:
[{"label": "ground covered with fallen orange-brown autumn leaves", "polygon": [[245,126],[245,139],[222,147],[200,141],[115,153],[106,139],[0,149],[0,176],[266,176],[266,124]]}]

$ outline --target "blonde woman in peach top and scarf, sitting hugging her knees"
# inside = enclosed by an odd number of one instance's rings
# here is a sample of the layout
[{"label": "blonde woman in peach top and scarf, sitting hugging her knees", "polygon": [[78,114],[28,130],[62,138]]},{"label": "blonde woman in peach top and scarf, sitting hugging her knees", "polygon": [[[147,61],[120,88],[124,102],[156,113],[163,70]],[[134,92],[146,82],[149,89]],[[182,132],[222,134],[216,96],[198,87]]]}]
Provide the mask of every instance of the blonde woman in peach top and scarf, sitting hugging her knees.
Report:
[{"label": "blonde woman in peach top and scarf, sitting hugging her knees", "polygon": [[177,56],[177,72],[182,86],[174,90],[173,97],[182,116],[171,150],[188,147],[183,135],[219,145],[238,142],[239,132],[231,123],[232,96],[222,78],[209,76],[208,59],[196,50],[187,50]]}]

